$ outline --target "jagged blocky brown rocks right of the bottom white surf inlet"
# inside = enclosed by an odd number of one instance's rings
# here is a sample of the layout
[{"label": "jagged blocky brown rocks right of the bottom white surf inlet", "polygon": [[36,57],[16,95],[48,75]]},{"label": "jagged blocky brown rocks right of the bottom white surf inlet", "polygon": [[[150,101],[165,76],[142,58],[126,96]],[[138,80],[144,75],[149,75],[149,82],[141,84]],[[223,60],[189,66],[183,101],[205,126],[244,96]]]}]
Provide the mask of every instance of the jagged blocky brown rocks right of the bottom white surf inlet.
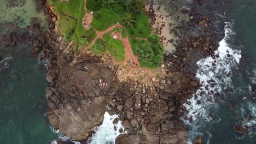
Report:
[{"label": "jagged blocky brown rocks right of the bottom white surf inlet", "polygon": [[187,143],[188,128],[179,114],[182,99],[193,92],[193,82],[183,73],[169,73],[161,79],[115,81],[108,102],[120,113],[129,133],[118,137],[117,143]]}]

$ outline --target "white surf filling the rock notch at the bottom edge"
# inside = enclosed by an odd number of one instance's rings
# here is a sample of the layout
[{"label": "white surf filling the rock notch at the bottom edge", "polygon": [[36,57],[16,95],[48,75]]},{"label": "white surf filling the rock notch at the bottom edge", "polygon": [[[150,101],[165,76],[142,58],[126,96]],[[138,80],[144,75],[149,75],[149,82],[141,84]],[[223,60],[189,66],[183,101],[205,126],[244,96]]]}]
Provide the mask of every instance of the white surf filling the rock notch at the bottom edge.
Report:
[{"label": "white surf filling the rock notch at the bottom edge", "polygon": [[[114,124],[113,121],[115,118],[119,118],[118,115],[109,115],[109,113],[106,111],[104,113],[104,120],[102,125],[95,128],[96,133],[92,135],[89,139],[89,143],[91,144],[100,144],[100,143],[115,143],[115,138],[119,136],[120,134],[126,133],[124,131],[124,127],[122,125],[121,121],[118,121],[118,123]],[[117,128],[117,130],[114,129],[114,127]],[[119,130],[122,129],[122,133],[119,132]]]}]

